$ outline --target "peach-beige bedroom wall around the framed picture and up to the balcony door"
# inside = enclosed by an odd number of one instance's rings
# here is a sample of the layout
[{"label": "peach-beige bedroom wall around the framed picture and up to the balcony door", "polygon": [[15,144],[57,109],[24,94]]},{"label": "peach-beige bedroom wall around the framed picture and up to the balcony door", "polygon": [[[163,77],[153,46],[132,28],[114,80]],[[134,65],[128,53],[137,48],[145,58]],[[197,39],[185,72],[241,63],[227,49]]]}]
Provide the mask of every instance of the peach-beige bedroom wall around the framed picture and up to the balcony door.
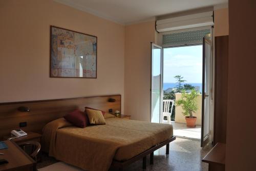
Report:
[{"label": "peach-beige bedroom wall around the framed picture and up to the balcony door", "polygon": [[[228,34],[226,13],[215,10],[217,35]],[[124,27],[52,0],[0,1],[0,21],[0,102],[120,93],[123,113],[150,121],[155,21]],[[97,79],[49,78],[50,25],[98,37]]]}]

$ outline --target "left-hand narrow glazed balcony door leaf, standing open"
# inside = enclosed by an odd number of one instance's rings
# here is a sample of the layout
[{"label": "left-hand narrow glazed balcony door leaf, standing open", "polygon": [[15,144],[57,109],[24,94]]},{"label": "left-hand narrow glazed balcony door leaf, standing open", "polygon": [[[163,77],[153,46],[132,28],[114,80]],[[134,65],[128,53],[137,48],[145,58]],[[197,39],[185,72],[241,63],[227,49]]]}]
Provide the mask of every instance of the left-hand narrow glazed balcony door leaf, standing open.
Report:
[{"label": "left-hand narrow glazed balcony door leaf, standing open", "polygon": [[162,115],[162,47],[151,43],[151,122]]}]

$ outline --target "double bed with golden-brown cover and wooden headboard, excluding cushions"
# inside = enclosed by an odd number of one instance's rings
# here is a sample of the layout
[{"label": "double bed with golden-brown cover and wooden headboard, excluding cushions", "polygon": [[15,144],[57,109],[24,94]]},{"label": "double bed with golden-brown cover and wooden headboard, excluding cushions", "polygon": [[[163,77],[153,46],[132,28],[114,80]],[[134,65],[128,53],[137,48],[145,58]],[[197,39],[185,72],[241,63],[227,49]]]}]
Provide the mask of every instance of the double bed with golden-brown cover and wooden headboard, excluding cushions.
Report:
[{"label": "double bed with golden-brown cover and wooden headboard, excluding cushions", "polygon": [[[2,103],[0,138],[18,129],[18,123],[26,117],[28,127],[24,131],[42,133],[42,150],[58,160],[85,170],[98,171],[110,167],[121,170],[143,159],[145,168],[147,155],[151,156],[153,164],[155,150],[166,145],[168,154],[169,143],[175,140],[172,126],[120,119],[105,114],[105,125],[78,128],[63,118],[74,110],[84,111],[87,106],[101,111],[122,111],[121,99],[121,95],[116,94]],[[20,106],[30,108],[30,112],[17,112]]]}]

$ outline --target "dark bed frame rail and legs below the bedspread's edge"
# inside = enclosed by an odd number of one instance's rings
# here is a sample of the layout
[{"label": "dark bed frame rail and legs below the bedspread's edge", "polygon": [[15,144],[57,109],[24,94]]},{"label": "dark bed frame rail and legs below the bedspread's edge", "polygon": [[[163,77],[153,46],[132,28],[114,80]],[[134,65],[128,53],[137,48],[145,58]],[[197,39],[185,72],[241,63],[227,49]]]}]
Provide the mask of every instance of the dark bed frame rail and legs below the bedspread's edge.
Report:
[{"label": "dark bed frame rail and legs below the bedspread's edge", "polygon": [[125,161],[117,161],[117,160],[113,160],[111,167],[112,168],[118,168],[119,171],[122,171],[124,167],[126,167],[127,165],[130,165],[132,163],[134,163],[137,160],[140,160],[141,158],[143,159],[143,163],[142,163],[142,168],[146,169],[146,156],[150,154],[150,164],[154,164],[154,151],[160,149],[162,146],[166,145],[166,153],[165,154],[169,154],[169,143],[174,141],[176,139],[175,136],[172,136],[172,138],[167,139],[166,141],[163,141],[159,144],[156,144],[155,146],[152,146],[152,148],[142,152],[141,154],[129,159],[129,160],[125,160]]}]

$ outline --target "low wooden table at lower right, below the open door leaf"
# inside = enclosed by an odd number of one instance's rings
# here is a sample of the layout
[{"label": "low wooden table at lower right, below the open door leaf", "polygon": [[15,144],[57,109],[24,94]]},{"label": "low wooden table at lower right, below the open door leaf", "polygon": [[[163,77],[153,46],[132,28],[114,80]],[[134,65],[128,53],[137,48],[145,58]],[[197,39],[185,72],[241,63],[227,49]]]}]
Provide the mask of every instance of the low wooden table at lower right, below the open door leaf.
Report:
[{"label": "low wooden table at lower right, below the open door leaf", "polygon": [[202,159],[202,162],[209,163],[209,170],[225,170],[226,144],[218,142],[214,148]]}]

